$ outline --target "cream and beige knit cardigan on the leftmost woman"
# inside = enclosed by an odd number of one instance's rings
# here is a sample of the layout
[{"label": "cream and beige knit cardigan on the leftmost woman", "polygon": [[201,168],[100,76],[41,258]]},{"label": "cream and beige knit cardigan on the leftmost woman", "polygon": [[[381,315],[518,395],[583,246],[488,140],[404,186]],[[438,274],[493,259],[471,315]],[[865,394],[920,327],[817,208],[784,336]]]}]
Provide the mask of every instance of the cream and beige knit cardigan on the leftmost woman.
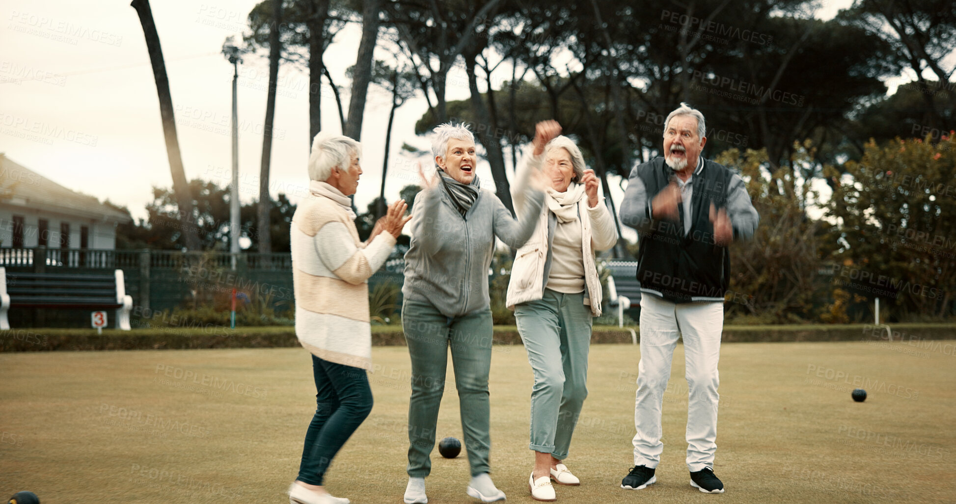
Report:
[{"label": "cream and beige knit cardigan on the leftmost woman", "polygon": [[388,258],[395,237],[382,231],[367,246],[361,243],[339,203],[347,197],[316,184],[331,197],[313,190],[295,209],[291,227],[295,336],[319,359],[371,369],[368,278]]}]

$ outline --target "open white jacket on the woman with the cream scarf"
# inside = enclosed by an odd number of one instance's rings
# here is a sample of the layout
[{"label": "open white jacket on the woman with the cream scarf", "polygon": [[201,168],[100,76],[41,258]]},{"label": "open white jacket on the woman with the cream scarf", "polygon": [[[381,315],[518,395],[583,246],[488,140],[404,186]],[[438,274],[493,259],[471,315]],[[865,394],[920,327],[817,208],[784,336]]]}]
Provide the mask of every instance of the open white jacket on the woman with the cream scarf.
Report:
[{"label": "open white jacket on the woman with the cream scarf", "polygon": [[[521,163],[515,171],[514,179],[516,181],[527,181],[530,177],[523,176],[527,170],[541,169],[544,163],[544,154],[539,156],[532,155],[531,147],[526,149]],[[523,211],[526,211],[524,198],[525,187],[515,185],[511,186],[511,199],[514,202],[514,211],[519,218]],[[544,296],[545,288],[545,263],[548,260],[548,247],[551,240],[548,236],[548,213],[550,210],[545,205],[541,208],[541,216],[538,219],[537,228],[534,229],[532,237],[525,243],[524,247],[518,249],[514,258],[514,264],[511,266],[511,281],[508,283],[508,295],[505,298],[505,304],[509,310],[514,310],[514,305],[527,301],[534,301]],[[577,203],[578,215],[581,223],[581,252],[584,261],[584,284],[587,289],[587,296],[584,297],[585,304],[591,305],[591,315],[599,317],[601,313],[601,286],[600,279],[597,277],[597,267],[595,266],[595,251],[606,251],[618,242],[618,230],[614,226],[614,218],[611,212],[604,205],[604,196],[598,188],[597,206],[588,207],[588,198],[585,195]]]}]

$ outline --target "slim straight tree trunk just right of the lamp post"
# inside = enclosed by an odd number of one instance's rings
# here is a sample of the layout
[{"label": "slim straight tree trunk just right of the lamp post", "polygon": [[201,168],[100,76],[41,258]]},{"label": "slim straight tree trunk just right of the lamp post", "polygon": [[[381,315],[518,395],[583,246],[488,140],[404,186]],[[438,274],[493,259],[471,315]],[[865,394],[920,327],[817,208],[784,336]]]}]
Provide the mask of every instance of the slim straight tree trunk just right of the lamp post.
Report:
[{"label": "slim straight tree trunk just right of the lamp post", "polygon": [[279,27],[282,26],[282,0],[272,0],[272,27],[269,29],[269,95],[266,99],[266,124],[262,132],[262,162],[259,168],[259,205],[256,214],[259,221],[259,253],[272,252],[272,235],[269,213],[272,198],[269,196],[269,168],[272,160],[272,123],[275,120],[275,88],[279,81],[279,57],[281,42]]}]

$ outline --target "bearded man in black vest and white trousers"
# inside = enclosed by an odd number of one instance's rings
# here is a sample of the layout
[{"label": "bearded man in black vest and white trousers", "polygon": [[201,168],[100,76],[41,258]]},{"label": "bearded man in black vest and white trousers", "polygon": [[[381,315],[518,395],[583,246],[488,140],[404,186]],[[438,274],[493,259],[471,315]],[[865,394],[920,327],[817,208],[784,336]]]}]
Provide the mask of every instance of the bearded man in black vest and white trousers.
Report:
[{"label": "bearded man in black vest and white trousers", "polygon": [[724,493],[714,475],[717,362],[733,240],[750,238],[760,220],[740,175],[706,161],[704,115],[685,103],[664,121],[663,158],[631,170],[620,220],[640,235],[641,362],[634,405],[634,468],[620,487],[657,479],[661,407],[678,337],[684,339],[687,469],[690,485]]}]

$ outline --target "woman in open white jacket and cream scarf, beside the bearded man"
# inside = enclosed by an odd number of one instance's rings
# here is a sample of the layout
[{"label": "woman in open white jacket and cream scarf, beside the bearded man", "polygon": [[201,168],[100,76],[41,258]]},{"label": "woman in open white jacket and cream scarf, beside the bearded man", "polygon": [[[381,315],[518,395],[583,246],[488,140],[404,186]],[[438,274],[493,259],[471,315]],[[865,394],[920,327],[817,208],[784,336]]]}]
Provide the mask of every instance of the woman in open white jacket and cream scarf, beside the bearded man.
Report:
[{"label": "woman in open white jacket and cream scarf, beside the bearded man", "polygon": [[534,371],[531,448],[534,470],[528,481],[536,500],[555,500],[551,481],[579,485],[564,464],[577,416],[588,395],[588,349],[592,317],[600,316],[601,286],[595,251],[614,247],[618,232],[597,177],[586,169],[575,142],[558,136],[556,121],[539,122],[531,155],[515,180],[538,172],[546,185],[540,210],[525,204],[523,187],[512,186],[518,217],[537,212],[538,225],[511,267],[506,304]]}]

